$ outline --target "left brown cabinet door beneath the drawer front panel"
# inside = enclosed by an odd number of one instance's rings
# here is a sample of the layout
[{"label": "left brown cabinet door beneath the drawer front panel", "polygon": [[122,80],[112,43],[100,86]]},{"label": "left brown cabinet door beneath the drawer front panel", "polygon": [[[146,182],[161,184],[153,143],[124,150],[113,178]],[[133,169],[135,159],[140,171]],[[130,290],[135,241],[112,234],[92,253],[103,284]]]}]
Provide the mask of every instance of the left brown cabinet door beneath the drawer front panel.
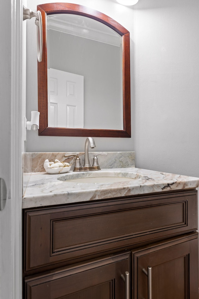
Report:
[{"label": "left brown cabinet door beneath the drawer front panel", "polygon": [[91,260],[26,278],[25,298],[125,299],[125,272],[130,272],[130,253]]}]

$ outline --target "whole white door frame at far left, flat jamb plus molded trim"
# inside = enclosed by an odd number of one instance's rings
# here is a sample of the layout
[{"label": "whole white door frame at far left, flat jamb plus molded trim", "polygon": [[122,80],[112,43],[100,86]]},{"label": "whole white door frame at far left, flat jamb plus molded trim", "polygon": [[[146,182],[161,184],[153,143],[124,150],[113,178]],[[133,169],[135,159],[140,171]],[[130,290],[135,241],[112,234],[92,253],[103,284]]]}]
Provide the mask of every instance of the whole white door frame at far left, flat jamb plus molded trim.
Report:
[{"label": "whole white door frame at far left, flat jamb plus molded trim", "polygon": [[21,0],[1,2],[0,178],[7,186],[6,205],[0,211],[2,299],[22,298],[21,12]]}]

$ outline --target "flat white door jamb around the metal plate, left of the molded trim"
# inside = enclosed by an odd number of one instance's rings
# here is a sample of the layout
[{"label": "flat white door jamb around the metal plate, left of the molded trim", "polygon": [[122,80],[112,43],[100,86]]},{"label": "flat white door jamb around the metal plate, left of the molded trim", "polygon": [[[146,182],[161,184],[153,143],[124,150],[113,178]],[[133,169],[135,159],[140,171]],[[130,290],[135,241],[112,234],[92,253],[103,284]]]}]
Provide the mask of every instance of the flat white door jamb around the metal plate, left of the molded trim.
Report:
[{"label": "flat white door jamb around the metal plate, left of the molded trim", "polygon": [[[1,9],[11,12],[11,1],[4,2]],[[7,21],[7,31],[3,24]],[[0,18],[0,36],[3,47],[0,47],[0,126],[5,130],[0,133],[0,178],[7,186],[7,200],[4,210],[0,211],[0,297],[12,298],[12,222],[9,218],[11,211],[11,16],[4,14]],[[9,116],[9,117],[8,117]],[[3,146],[3,145],[6,145]],[[8,161],[8,162],[7,162]],[[5,287],[6,285],[6,287]]]}]

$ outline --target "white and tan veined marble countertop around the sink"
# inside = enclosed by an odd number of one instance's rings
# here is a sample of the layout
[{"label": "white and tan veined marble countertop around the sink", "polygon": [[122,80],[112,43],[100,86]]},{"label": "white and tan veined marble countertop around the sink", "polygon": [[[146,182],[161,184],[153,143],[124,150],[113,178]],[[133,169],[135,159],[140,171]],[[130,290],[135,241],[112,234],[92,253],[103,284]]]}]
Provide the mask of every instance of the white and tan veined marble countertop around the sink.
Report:
[{"label": "white and tan veined marble countertop around the sink", "polygon": [[22,208],[199,187],[199,178],[140,168],[102,169],[95,173],[99,175],[107,171],[117,172],[116,176],[123,177],[136,173],[140,178],[116,183],[72,183],[58,180],[74,174],[71,171],[66,174],[24,173]]}]

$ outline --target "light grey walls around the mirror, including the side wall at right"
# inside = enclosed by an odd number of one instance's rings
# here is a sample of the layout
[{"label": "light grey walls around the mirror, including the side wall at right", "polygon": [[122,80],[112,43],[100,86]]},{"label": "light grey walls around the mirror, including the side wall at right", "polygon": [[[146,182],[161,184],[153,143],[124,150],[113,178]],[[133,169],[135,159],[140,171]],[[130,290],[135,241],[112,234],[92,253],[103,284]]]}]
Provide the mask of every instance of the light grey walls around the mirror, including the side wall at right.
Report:
[{"label": "light grey walls around the mirror, including the side wall at right", "polygon": [[[36,4],[53,1],[28,0]],[[96,150],[135,150],[136,167],[199,176],[198,0],[76,0],[130,31],[132,138],[95,138]],[[32,20],[27,22],[27,116],[37,110],[37,63]],[[83,151],[84,137],[28,132],[27,151]]]}]

